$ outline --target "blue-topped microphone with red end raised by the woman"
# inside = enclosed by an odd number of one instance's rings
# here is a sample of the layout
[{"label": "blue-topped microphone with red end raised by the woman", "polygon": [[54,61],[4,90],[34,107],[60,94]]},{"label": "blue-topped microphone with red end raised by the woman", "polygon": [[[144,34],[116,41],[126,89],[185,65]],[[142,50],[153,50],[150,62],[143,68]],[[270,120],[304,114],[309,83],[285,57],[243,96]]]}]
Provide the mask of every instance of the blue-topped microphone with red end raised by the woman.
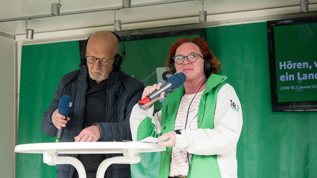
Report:
[{"label": "blue-topped microphone with red end raised by the woman", "polygon": [[138,103],[139,105],[145,105],[153,99],[159,97],[162,92],[167,92],[169,90],[175,90],[176,88],[182,86],[186,80],[186,75],[182,72],[174,73],[166,80],[166,83],[161,86],[159,90],[155,90],[150,93],[143,99],[141,99]]}]

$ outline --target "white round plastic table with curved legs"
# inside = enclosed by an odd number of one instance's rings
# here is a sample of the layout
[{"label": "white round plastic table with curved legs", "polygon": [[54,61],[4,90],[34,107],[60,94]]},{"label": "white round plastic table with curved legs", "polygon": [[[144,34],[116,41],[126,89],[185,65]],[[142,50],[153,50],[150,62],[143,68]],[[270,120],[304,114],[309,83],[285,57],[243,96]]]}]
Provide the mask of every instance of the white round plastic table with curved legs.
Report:
[{"label": "white round plastic table with curved legs", "polygon": [[78,172],[79,178],[86,178],[86,171],[82,163],[70,156],[58,154],[106,154],[123,153],[123,156],[108,158],[100,163],[97,178],[103,178],[110,164],[136,164],[140,162],[139,153],[165,151],[166,147],[158,143],[139,142],[59,142],[59,143],[31,143],[16,145],[17,153],[40,153],[43,161],[48,165],[71,164]]}]

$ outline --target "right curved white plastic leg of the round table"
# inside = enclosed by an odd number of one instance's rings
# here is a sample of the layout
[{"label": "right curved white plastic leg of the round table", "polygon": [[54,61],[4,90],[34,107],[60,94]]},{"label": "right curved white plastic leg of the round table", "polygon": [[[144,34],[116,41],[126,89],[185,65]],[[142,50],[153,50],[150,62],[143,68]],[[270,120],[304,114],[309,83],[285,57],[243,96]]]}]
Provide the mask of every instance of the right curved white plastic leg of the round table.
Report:
[{"label": "right curved white plastic leg of the round table", "polygon": [[141,160],[140,156],[128,157],[128,156],[117,156],[108,158],[100,163],[96,178],[103,178],[105,176],[107,168],[110,164],[136,164]]}]

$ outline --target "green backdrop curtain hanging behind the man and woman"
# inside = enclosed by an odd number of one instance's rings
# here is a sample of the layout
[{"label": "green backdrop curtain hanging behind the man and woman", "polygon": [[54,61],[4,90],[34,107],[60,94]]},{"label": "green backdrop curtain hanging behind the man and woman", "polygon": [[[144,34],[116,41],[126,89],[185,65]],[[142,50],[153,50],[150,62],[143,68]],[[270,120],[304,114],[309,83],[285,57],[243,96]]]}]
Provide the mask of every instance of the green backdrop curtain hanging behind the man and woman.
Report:
[{"label": "green backdrop curtain hanging behind the man and woman", "polygon": [[[144,76],[164,67],[170,45],[178,37],[153,39],[146,53],[138,46],[144,41],[125,42],[128,58],[122,71],[147,85]],[[250,23],[206,29],[210,48],[240,99],[243,128],[237,145],[239,178],[315,178],[317,177],[316,112],[272,112],[268,67],[266,23]],[[149,43],[150,44],[150,43]],[[156,46],[155,46],[156,45]],[[300,55],[300,54],[299,54]],[[23,46],[18,122],[18,144],[54,142],[43,134],[42,115],[49,106],[59,79],[78,68],[78,41]],[[154,65],[145,74],[135,67]],[[143,71],[142,71],[143,72]],[[156,177],[158,153],[140,154],[141,162],[131,165],[133,177]],[[153,161],[154,160],[154,161]],[[41,154],[17,153],[16,177],[56,177],[56,166],[43,163]]]}]

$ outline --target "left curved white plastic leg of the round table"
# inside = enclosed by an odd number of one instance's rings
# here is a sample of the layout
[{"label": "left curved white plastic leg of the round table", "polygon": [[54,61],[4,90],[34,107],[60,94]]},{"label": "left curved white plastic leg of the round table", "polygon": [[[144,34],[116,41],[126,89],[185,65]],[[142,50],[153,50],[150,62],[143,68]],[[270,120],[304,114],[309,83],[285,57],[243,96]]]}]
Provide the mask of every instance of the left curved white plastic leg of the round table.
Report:
[{"label": "left curved white plastic leg of the round table", "polygon": [[56,164],[71,164],[77,170],[79,178],[87,178],[85,168],[78,159],[70,156],[58,157],[55,149],[43,150],[43,162],[50,166],[55,166]]}]

